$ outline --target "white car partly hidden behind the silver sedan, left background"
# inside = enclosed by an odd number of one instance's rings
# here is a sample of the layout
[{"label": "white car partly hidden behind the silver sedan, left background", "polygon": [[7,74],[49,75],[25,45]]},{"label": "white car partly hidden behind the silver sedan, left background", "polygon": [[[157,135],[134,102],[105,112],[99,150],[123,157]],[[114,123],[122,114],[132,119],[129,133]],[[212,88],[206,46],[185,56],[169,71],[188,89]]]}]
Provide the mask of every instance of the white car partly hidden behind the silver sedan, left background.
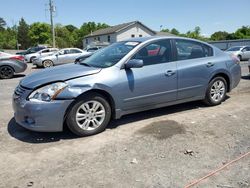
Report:
[{"label": "white car partly hidden behind the silver sedan, left background", "polygon": [[40,58],[40,57],[45,57],[45,56],[49,56],[54,54],[55,52],[57,52],[58,49],[57,48],[46,48],[46,49],[42,49],[38,52],[32,53],[32,54],[27,54],[24,56],[24,61],[26,63],[32,63],[32,61],[36,58]]}]

